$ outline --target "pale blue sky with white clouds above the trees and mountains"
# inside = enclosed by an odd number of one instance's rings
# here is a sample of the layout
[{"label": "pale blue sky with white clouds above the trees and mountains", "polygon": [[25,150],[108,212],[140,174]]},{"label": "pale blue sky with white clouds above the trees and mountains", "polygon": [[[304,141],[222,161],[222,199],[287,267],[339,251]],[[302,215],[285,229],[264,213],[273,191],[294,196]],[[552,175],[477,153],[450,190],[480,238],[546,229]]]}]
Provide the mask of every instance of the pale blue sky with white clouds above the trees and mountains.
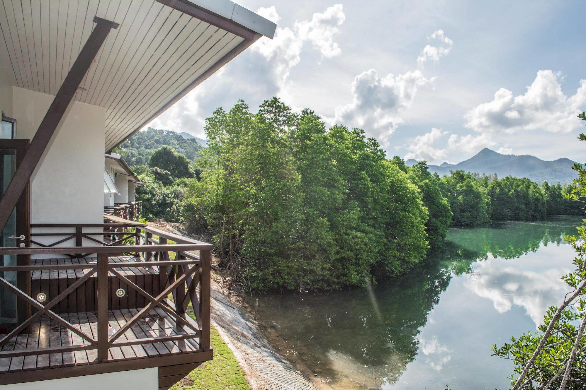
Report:
[{"label": "pale blue sky with white clouds above the trees and mountains", "polygon": [[280,97],[364,129],[387,156],[457,163],[500,153],[584,162],[586,50],[578,1],[238,4],[277,23],[148,126],[206,138],[239,99]]}]

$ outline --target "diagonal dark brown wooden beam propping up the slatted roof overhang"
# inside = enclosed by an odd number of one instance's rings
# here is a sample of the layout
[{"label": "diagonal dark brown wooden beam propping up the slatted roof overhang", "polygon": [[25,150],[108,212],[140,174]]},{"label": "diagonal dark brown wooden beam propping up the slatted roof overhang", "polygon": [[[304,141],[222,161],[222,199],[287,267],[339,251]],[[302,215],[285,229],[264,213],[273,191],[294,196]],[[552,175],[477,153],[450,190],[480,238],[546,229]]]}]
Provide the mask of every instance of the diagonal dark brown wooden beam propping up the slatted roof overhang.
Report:
[{"label": "diagonal dark brown wooden beam propping up the slatted roof overhang", "polygon": [[45,118],[40,122],[39,129],[30,142],[21,165],[16,169],[8,189],[6,189],[4,196],[0,200],[0,230],[4,230],[12,210],[25,190],[30,176],[32,176],[43,152],[49,145],[59,122],[63,118],[63,114],[73,99],[81,80],[90,68],[98,50],[100,50],[110,30],[118,28],[118,23],[98,18],[97,16],[94,17],[94,23],[96,23],[96,27],[88,37],[73,66],[71,66],[67,77],[63,80],[63,84],[55,95],[49,110],[47,110]]}]

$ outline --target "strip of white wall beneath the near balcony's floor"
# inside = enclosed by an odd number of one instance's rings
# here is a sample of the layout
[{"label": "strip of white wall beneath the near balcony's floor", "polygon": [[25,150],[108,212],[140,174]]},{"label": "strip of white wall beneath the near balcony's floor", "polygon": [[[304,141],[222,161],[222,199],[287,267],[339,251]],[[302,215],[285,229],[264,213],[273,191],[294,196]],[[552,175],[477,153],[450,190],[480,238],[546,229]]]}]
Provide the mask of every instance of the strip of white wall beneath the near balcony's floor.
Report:
[{"label": "strip of white wall beneath the near balcony's floor", "polygon": [[[35,373],[30,375],[34,377]],[[158,390],[159,369],[111,372],[109,374],[86,375],[84,377],[51,379],[50,381],[26,382],[15,385],[0,386],[1,390]]]}]

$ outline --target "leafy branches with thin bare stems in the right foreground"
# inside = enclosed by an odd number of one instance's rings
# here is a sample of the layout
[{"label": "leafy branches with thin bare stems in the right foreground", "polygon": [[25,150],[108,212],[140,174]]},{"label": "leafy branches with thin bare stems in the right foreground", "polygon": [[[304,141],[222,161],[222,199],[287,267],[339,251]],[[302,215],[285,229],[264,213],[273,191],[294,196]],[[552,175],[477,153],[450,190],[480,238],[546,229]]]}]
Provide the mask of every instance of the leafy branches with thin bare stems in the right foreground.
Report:
[{"label": "leafy branches with thin bare stems in the right foreground", "polygon": [[[584,113],[578,115],[586,121]],[[580,139],[586,141],[586,134]],[[568,198],[586,202],[586,168],[574,165],[578,179]],[[586,220],[584,220],[586,224]],[[536,333],[527,332],[512,342],[497,347],[496,356],[510,359],[515,364],[511,377],[513,390],[517,389],[583,389],[586,387],[586,226],[577,228],[578,234],[566,236],[576,251],[575,271],[563,276],[571,288],[559,307],[550,307],[544,323]]]}]

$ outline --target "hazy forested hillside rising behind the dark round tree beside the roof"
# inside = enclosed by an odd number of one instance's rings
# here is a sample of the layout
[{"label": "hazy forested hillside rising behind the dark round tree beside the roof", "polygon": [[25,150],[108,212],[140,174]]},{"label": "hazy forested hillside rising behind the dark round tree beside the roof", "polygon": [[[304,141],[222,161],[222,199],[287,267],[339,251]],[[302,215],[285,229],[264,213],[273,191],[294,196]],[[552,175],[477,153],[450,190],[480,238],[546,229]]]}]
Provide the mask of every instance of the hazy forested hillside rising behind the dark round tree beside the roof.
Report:
[{"label": "hazy forested hillside rising behind the dark round tree beside the roof", "polygon": [[120,145],[128,165],[148,165],[152,153],[161,146],[171,146],[176,152],[185,155],[194,162],[199,157],[202,145],[195,138],[186,139],[170,130],[158,130],[149,127],[139,131]]}]

